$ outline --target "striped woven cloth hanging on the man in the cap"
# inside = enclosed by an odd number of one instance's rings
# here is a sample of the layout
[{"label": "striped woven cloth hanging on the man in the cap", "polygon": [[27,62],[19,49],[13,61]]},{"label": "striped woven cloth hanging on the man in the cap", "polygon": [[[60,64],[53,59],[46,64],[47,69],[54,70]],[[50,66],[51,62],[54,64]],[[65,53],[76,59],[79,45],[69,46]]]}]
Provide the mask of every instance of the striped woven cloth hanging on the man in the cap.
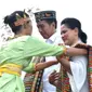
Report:
[{"label": "striped woven cloth hanging on the man in the cap", "polygon": [[[43,62],[44,57],[34,57],[32,62]],[[35,74],[26,74],[24,78],[25,91],[26,92],[42,92],[42,75],[43,70]]]}]

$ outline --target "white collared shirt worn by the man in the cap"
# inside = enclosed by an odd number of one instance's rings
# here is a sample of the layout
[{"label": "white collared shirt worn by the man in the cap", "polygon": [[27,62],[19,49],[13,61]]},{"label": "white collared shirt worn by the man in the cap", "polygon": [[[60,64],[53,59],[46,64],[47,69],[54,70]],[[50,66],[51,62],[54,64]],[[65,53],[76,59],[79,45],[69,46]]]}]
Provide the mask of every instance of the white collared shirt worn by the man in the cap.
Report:
[{"label": "white collared shirt worn by the man in the cap", "polygon": [[[63,43],[61,35],[58,35],[57,32],[51,36],[45,42],[50,44]],[[45,62],[50,62],[50,61],[56,61],[56,57],[55,56],[45,57]],[[56,88],[49,83],[49,75],[53,73],[53,70],[60,71],[60,68],[61,68],[61,64],[56,64],[44,69],[43,77],[42,77],[42,81],[43,81],[42,92],[56,92]]]}]

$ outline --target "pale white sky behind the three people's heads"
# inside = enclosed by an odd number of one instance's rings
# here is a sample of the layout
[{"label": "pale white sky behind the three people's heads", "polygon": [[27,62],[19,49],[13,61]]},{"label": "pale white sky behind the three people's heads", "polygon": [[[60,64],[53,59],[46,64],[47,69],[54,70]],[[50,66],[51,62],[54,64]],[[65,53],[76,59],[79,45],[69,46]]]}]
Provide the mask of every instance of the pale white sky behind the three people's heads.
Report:
[{"label": "pale white sky behind the three people's heads", "polygon": [[[92,4],[91,0],[1,0],[0,1],[0,34],[5,31],[2,26],[3,17],[16,10],[40,9],[56,11],[58,22],[57,30],[60,31],[60,23],[65,17],[76,17],[82,24],[82,30],[88,35],[88,43],[92,44]],[[35,19],[32,35],[40,38]]]}]

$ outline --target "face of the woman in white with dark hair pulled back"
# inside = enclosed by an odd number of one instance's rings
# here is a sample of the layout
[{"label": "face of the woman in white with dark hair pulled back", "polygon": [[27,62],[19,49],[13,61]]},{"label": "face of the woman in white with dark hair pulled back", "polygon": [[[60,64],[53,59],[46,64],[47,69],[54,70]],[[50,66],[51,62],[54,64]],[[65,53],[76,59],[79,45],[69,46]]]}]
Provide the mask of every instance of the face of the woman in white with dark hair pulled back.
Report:
[{"label": "face of the woman in white with dark hair pulled back", "polygon": [[61,26],[61,35],[66,45],[73,45],[78,37],[78,31],[68,28],[65,24]]}]

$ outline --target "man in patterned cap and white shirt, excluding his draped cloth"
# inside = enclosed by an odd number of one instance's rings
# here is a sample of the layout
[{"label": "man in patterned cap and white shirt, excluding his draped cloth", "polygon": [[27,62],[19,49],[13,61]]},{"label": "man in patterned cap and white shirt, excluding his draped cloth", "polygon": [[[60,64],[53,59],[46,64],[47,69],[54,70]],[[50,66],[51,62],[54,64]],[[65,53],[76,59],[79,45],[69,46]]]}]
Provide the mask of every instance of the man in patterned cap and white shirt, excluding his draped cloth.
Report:
[{"label": "man in patterned cap and white shirt, excluding his draped cloth", "polygon": [[[41,11],[35,13],[37,27],[41,36],[45,39],[47,43],[58,44],[62,43],[61,35],[56,32],[56,13],[55,11]],[[39,18],[40,17],[40,18]],[[55,56],[45,57],[45,62],[56,61]],[[61,65],[53,65],[43,70],[42,82],[43,88],[42,92],[56,92],[56,88],[49,83],[49,75],[53,71],[60,70]]]}]

